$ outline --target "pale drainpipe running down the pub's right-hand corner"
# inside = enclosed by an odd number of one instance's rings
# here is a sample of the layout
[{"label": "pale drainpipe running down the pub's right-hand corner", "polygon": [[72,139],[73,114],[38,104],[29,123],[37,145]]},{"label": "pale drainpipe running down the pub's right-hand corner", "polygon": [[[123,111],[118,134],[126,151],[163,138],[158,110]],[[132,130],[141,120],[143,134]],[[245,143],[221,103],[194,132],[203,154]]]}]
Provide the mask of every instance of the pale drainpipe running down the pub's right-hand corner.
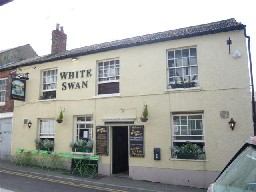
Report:
[{"label": "pale drainpipe running down the pub's right-hand corner", "polygon": [[252,119],[253,119],[253,135],[256,136],[256,114],[255,114],[255,99],[254,99],[254,85],[252,76],[252,58],[250,48],[250,36],[246,35],[246,25],[244,26],[244,36],[248,38],[248,52],[249,52],[249,63],[250,63],[250,74],[251,74],[251,86],[252,86]]}]

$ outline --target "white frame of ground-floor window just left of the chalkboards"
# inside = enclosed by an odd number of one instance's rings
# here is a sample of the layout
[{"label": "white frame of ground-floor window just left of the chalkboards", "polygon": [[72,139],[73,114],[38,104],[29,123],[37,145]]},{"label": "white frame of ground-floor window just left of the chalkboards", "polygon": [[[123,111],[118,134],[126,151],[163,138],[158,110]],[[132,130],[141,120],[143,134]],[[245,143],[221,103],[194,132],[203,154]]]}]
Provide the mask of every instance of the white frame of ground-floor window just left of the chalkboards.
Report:
[{"label": "white frame of ground-floor window just left of the chalkboards", "polygon": [[[85,120],[86,120],[86,117],[92,117],[92,121],[77,121],[78,117],[84,117]],[[85,124],[85,128],[81,128],[81,129],[92,129],[92,137],[91,137],[91,139],[93,140],[93,137],[94,137],[94,122],[93,121],[94,121],[93,115],[78,115],[78,116],[74,116],[74,138],[73,138],[74,142],[77,142],[77,137],[79,139],[79,131],[78,131],[78,135],[77,135],[77,129],[80,129],[80,128],[76,127],[79,124]],[[91,124],[92,128],[86,128],[86,124]]]}]

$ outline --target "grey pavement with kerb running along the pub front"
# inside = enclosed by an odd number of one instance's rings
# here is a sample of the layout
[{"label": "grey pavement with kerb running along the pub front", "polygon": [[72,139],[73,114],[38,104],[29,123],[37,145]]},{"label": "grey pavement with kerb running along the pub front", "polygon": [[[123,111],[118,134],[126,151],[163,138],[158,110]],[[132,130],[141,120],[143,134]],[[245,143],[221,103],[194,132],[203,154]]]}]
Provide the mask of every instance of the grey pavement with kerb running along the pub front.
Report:
[{"label": "grey pavement with kerb running along the pub front", "polygon": [[139,191],[149,191],[149,192],[206,192],[206,189],[192,188],[185,186],[162,184],[157,182],[139,181],[132,180],[128,177],[123,176],[103,176],[98,175],[93,178],[82,177],[80,174],[70,175],[67,173],[59,173],[57,171],[39,170],[36,168],[15,166],[7,161],[0,160],[0,169],[24,172],[27,174],[34,174],[38,176],[45,176],[50,178],[56,178],[59,180],[69,180],[73,182],[80,182],[83,184],[96,184],[100,186],[108,187],[120,187],[127,190],[139,190]]}]

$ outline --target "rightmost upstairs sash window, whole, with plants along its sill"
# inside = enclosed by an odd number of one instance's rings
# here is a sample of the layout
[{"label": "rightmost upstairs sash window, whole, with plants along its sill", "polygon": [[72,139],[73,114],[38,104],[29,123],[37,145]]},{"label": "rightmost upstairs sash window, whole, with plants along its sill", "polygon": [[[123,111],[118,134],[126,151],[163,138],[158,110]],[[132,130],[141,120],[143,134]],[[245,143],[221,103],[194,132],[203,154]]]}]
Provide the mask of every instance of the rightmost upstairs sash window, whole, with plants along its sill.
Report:
[{"label": "rightmost upstairs sash window, whole, with plants along its sill", "polygon": [[168,51],[167,71],[169,89],[198,86],[196,48]]}]

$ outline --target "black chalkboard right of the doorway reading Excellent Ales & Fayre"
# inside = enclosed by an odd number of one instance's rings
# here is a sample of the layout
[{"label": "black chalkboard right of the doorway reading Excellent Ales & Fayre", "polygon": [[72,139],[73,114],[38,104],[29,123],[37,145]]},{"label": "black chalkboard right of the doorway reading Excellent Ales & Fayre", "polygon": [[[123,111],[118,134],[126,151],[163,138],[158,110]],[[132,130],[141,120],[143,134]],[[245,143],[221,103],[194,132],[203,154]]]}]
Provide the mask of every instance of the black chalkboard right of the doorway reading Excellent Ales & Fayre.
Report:
[{"label": "black chalkboard right of the doorway reading Excellent Ales & Fayre", "polygon": [[130,125],[130,157],[144,157],[144,125]]}]

